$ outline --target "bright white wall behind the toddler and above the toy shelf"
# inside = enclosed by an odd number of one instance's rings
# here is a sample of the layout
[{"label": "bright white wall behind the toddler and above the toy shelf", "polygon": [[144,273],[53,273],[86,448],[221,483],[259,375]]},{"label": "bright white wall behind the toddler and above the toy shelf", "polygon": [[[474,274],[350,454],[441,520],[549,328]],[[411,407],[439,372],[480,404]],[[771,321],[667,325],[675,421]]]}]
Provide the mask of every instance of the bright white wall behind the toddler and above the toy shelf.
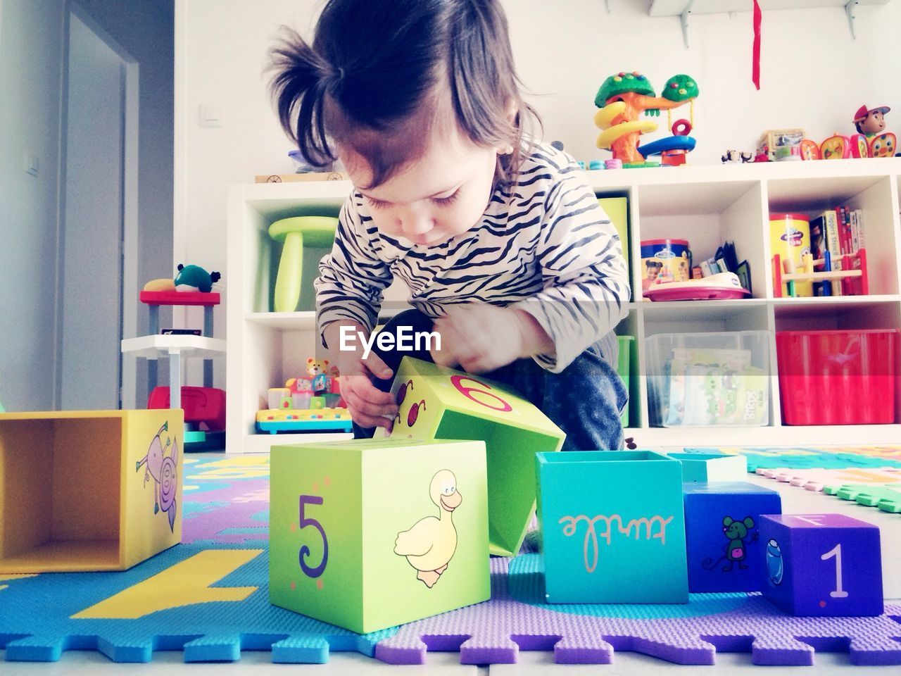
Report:
[{"label": "bright white wall behind the toddler and above the toy shelf", "polygon": [[[266,89],[267,51],[280,24],[309,35],[322,3],[177,0],[176,5],[180,132],[174,254],[176,261],[223,272],[227,288],[228,184],[293,170],[286,156],[290,145]],[[896,40],[901,2],[861,5],[856,41],[841,7],[765,12],[760,91],[751,84],[750,12],[694,15],[685,50],[678,17],[649,17],[650,0],[610,0],[611,14],[602,0],[504,0],[504,5],[520,76],[542,114],[545,138],[560,139],[580,159],[609,157],[594,148],[593,102],[604,78],[619,70],[642,71],[658,91],[677,73],[696,78],[701,95],[693,163],[718,163],[727,148],[752,150],[765,129],[800,126],[818,141],[834,131],[851,132],[851,118],[862,104],[893,106],[888,126],[901,129]],[[221,106],[222,127],[199,126],[203,104]],[[666,119],[660,116],[664,125]],[[219,308],[219,337],[224,325]]]}]

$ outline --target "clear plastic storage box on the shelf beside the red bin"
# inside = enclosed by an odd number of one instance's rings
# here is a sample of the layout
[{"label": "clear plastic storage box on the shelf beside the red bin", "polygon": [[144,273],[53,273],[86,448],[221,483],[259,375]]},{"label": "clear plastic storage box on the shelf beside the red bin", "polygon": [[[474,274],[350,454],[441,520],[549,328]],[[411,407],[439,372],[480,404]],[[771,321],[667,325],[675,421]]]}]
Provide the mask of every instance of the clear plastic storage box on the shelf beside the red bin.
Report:
[{"label": "clear plastic storage box on the shelf beside the red bin", "polygon": [[645,343],[655,427],[768,425],[769,333],[660,333]]}]

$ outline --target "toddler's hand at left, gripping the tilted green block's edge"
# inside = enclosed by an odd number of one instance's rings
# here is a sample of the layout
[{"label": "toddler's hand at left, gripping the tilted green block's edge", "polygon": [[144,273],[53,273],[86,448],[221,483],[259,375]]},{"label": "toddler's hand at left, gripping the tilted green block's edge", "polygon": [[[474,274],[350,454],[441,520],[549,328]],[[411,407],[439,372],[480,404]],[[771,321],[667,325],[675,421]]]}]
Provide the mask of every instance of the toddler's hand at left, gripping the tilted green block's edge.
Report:
[{"label": "toddler's hand at left, gripping the tilted green block's edge", "polygon": [[[337,324],[329,324],[325,329],[325,342],[329,345],[340,344],[334,339]],[[363,330],[361,326],[359,330]],[[397,405],[389,392],[382,392],[372,384],[372,378],[389,379],[394,372],[375,352],[369,352],[363,359],[362,348],[352,352],[335,349],[332,357],[341,373],[341,397],[353,422],[363,427],[384,427],[390,432]]]}]

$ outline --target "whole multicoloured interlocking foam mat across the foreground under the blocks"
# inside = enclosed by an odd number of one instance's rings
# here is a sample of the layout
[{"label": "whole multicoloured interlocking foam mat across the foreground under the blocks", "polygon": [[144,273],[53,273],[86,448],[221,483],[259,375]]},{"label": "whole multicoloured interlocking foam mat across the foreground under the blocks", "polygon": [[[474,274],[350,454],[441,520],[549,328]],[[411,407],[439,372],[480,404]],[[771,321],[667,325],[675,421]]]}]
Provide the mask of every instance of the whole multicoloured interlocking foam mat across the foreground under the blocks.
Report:
[{"label": "whole multicoloured interlocking foam mat across the foreground under the blocks", "polygon": [[268,603],[268,456],[185,463],[182,544],[129,571],[0,579],[6,660],[96,650],[115,662],[150,662],[169,650],[187,662],[233,662],[254,650],[270,651],[273,662],[327,662],[331,651],[350,651],[420,663],[428,651],[460,651],[460,662],[484,664],[539,650],[556,662],[605,663],[634,651],[709,664],[719,651],[788,665],[835,651],[854,664],[901,664],[901,605],[865,618],[788,617],[747,594],[697,594],[679,606],[549,606],[534,553],[492,559],[485,603],[356,635]]}]

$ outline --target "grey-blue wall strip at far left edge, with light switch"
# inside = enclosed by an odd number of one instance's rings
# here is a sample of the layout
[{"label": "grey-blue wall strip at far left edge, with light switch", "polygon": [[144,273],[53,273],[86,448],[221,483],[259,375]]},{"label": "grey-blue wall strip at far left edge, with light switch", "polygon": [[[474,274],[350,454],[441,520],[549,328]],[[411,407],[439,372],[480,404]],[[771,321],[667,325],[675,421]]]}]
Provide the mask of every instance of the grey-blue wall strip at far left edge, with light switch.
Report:
[{"label": "grey-blue wall strip at far left edge, with light switch", "polygon": [[[0,402],[54,404],[59,0],[4,0],[0,31]],[[35,83],[41,83],[35,87]],[[26,174],[30,152],[37,177]]]}]

